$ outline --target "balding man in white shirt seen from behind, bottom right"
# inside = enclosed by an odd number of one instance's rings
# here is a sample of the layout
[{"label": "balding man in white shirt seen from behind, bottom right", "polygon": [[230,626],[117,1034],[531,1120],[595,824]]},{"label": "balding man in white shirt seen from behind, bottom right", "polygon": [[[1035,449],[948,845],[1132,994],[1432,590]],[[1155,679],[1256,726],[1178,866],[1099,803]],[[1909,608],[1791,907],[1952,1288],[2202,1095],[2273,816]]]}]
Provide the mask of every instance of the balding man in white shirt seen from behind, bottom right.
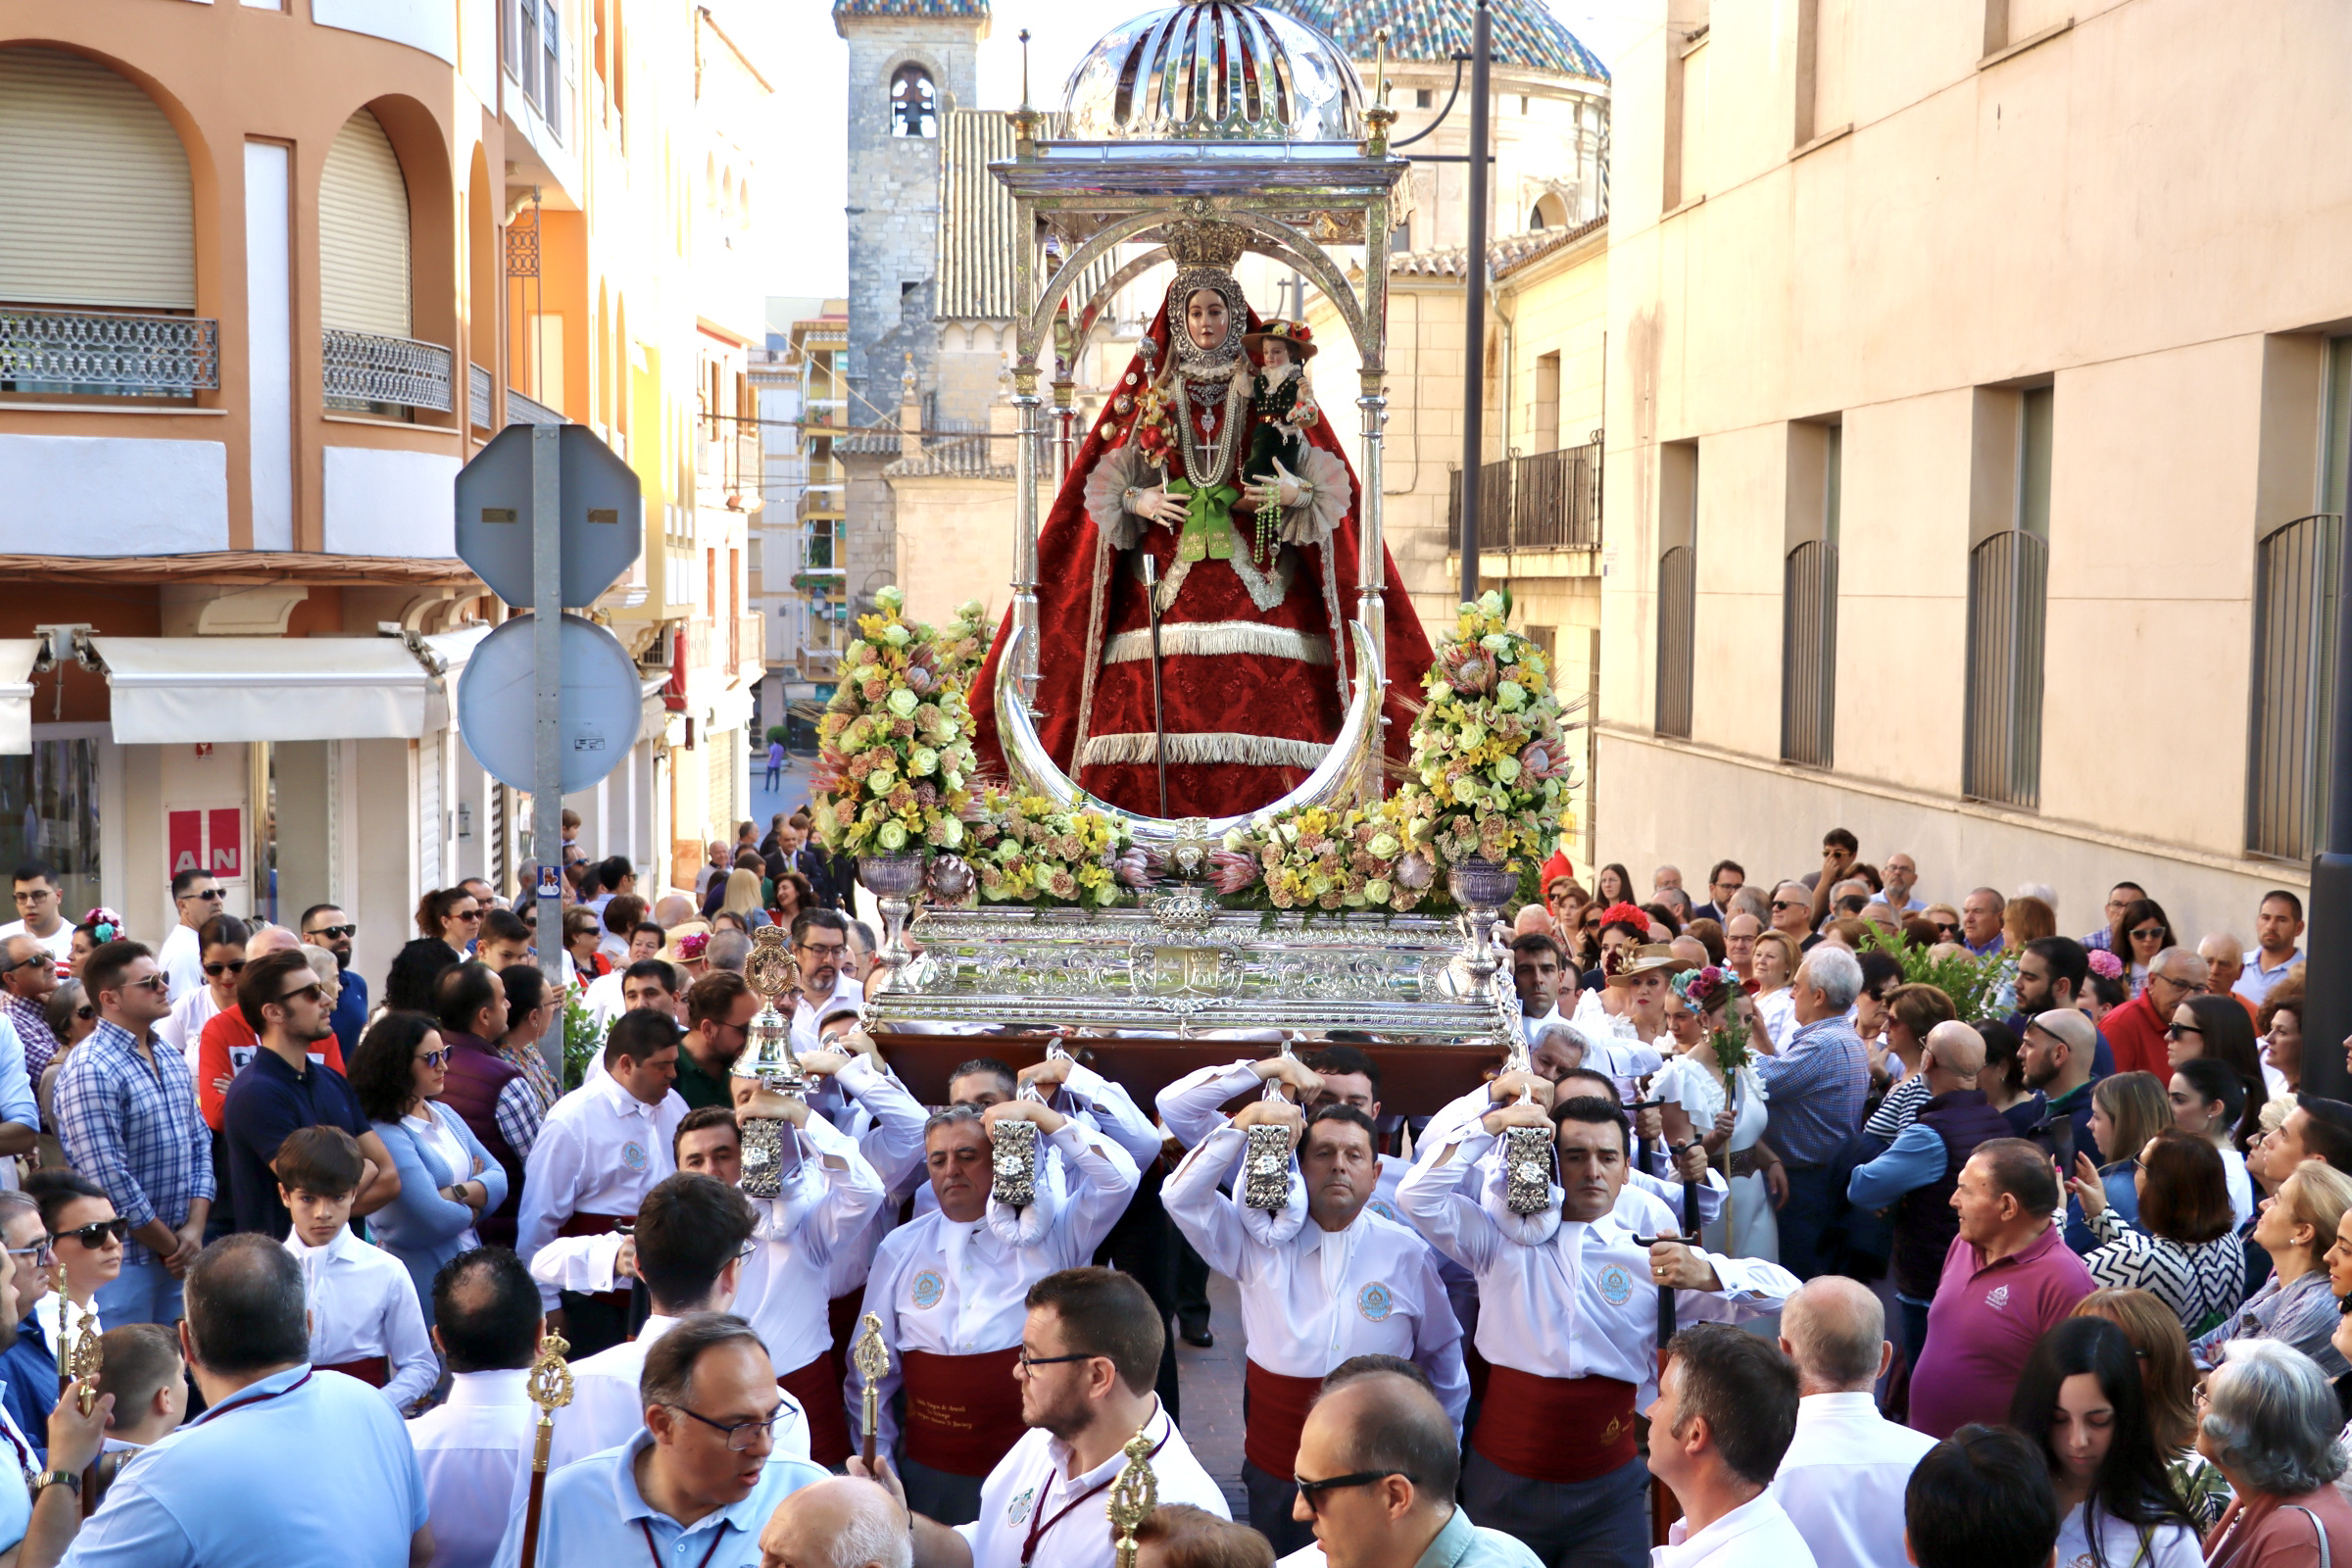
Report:
[{"label": "balding man in white shirt seen from behind, bottom right", "polygon": [[1818,1568],[1905,1568],[1903,1488],[1936,1439],[1879,1415],[1886,1309],[1844,1274],[1811,1279],[1780,1309],[1780,1354],[1797,1366],[1797,1436],[1771,1495]]}]

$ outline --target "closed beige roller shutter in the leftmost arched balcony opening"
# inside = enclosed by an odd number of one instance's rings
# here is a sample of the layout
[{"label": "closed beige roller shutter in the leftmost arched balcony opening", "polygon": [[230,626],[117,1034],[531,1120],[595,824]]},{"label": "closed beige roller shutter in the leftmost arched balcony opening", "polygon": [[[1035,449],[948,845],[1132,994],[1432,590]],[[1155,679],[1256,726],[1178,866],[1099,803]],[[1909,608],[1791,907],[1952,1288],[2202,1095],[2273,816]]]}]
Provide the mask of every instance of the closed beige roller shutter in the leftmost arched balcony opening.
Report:
[{"label": "closed beige roller shutter in the leftmost arched balcony opening", "polygon": [[179,132],[80,54],[0,49],[0,301],[195,308]]}]

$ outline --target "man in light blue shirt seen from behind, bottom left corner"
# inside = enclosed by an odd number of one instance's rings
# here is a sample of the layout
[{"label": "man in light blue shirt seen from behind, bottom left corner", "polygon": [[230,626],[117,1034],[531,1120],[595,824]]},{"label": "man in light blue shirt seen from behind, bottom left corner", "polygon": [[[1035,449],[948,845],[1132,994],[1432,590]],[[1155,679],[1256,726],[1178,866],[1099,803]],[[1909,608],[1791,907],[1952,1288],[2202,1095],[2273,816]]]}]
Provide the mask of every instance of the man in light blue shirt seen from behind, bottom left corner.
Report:
[{"label": "man in light blue shirt seen from behind, bottom left corner", "polygon": [[376,1389],[310,1368],[294,1253],[223,1237],[188,1267],[186,1295],[179,1347],[209,1408],[122,1469],[68,1568],[430,1561],[416,1448]]}]

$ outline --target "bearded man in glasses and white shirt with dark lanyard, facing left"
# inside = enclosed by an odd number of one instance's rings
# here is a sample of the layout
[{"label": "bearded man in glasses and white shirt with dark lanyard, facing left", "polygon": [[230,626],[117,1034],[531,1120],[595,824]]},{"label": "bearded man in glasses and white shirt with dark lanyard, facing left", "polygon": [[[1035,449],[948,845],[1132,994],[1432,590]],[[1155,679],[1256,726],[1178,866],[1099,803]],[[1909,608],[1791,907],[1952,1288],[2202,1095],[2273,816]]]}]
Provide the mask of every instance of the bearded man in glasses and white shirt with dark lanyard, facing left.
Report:
[{"label": "bearded man in glasses and white shirt with dark lanyard, facing left", "polygon": [[[1063,1269],[1030,1286],[1025,1302],[1014,1366],[1028,1434],[988,1474],[974,1523],[910,1516],[915,1568],[1110,1568],[1103,1502],[1127,1467],[1120,1448],[1138,1434],[1152,1443],[1160,1507],[1188,1502],[1230,1519],[1225,1493],[1152,1394],[1167,1319],[1143,1286],[1115,1269]],[[877,1469],[906,1502],[891,1467]],[[866,1462],[849,1460],[849,1474],[868,1474]]]}]

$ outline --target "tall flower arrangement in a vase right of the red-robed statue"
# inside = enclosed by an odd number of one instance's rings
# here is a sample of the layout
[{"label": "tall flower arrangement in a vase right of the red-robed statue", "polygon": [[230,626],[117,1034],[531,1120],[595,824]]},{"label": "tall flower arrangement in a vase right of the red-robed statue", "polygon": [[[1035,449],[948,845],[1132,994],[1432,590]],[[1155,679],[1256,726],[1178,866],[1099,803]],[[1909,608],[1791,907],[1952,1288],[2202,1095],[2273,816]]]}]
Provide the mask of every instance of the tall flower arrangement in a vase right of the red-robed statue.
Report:
[{"label": "tall flower arrangement in a vase right of the red-robed statue", "polygon": [[1421,679],[1414,780],[1435,797],[1446,863],[1543,856],[1569,776],[1550,661],[1503,621],[1503,595],[1463,604]]}]

